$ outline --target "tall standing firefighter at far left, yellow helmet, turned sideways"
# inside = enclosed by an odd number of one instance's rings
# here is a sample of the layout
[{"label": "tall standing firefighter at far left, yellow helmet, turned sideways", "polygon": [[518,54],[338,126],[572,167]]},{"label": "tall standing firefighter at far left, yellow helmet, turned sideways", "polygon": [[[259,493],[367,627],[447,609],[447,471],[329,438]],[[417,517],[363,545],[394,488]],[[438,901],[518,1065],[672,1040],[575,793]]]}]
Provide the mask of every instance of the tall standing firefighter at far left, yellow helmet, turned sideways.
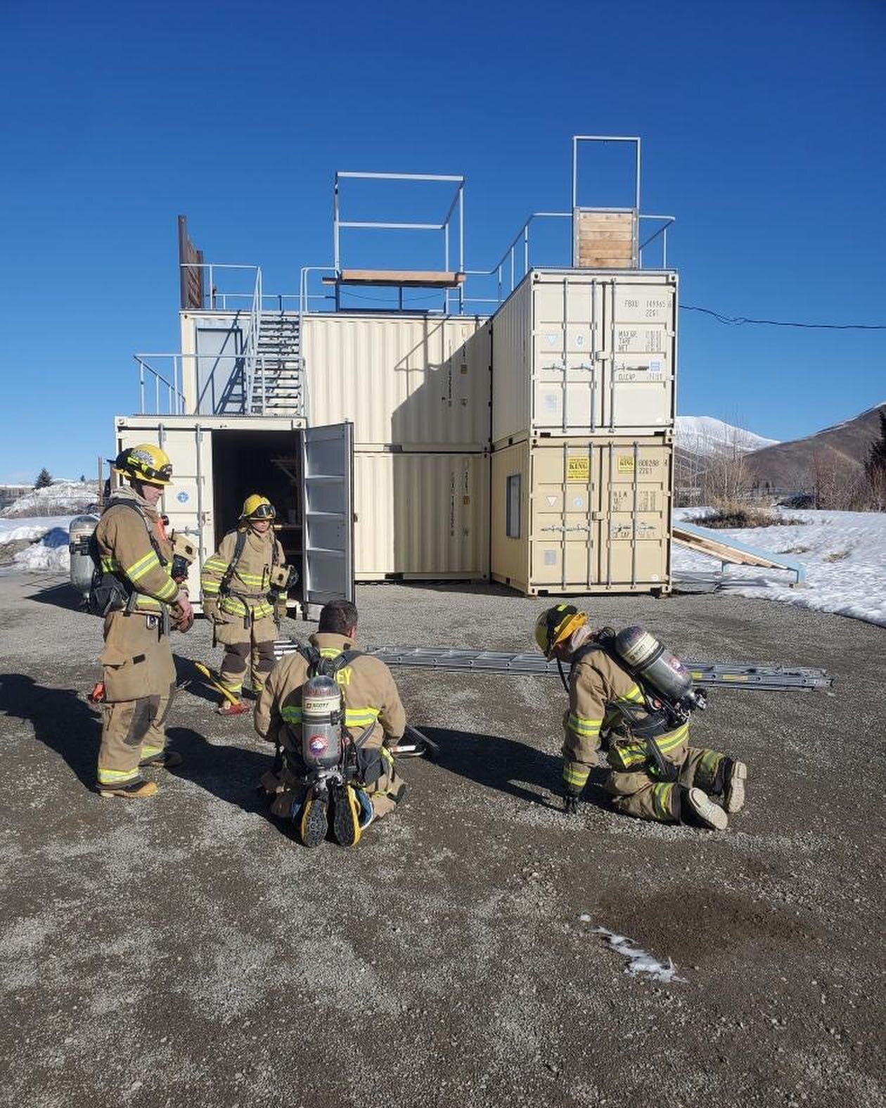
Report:
[{"label": "tall standing firefighter at far left, yellow helmet, turned sideways", "polygon": [[114,472],[130,488],[113,492],[94,534],[97,563],[90,606],[104,615],[104,716],[97,789],[103,797],[144,798],[157,791],[142,777],[171,768],[165,724],[175,693],[169,629],[187,630],[194,613],[172,576],[173,546],[157,513],[172,484],[167,455],[151,443],[122,451]]}]

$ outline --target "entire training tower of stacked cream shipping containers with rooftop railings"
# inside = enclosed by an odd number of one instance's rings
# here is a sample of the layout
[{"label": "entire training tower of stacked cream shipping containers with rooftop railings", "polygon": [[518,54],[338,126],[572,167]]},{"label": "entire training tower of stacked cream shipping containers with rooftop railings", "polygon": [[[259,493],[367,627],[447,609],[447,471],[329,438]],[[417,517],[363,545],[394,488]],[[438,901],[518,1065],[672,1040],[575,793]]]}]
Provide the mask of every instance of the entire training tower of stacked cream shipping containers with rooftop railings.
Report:
[{"label": "entire training tower of stacked cream shipping containers with rooftop railings", "polygon": [[[588,143],[632,150],[624,207],[579,204]],[[140,412],[117,417],[115,445],[171,454],[164,507],[199,562],[259,489],[308,609],[354,579],[670,589],[673,217],[640,211],[639,138],[577,135],[571,161],[569,211],[532,214],[488,269],[465,265],[461,176],[336,174],[332,264],[291,293],[207,263],[179,217],[182,348],[135,356]],[[368,182],[432,186],[443,205],[349,218]],[[546,227],[569,232],[568,264],[538,265]],[[403,230],[434,243],[430,265],[351,260],[353,233]]]}]

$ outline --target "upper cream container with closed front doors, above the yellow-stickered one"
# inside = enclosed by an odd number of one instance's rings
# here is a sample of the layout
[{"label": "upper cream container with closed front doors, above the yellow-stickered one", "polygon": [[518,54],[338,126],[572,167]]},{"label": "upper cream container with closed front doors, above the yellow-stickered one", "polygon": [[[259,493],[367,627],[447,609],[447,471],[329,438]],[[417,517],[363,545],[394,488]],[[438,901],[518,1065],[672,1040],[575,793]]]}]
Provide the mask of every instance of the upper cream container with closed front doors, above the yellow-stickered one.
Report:
[{"label": "upper cream container with closed front doors, above the yellow-stickered one", "polygon": [[532,270],[492,319],[496,444],[671,428],[677,274]]}]

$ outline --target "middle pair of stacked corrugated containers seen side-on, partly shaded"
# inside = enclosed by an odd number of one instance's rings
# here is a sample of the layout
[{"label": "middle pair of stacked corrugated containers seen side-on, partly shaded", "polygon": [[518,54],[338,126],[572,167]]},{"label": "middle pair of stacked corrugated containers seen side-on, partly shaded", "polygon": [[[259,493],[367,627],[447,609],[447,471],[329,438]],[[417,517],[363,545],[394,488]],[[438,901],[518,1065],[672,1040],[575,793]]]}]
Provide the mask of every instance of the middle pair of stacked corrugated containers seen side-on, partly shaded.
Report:
[{"label": "middle pair of stacked corrugated containers seen side-on, partly shaded", "polygon": [[490,328],[306,315],[311,425],[350,420],[358,581],[490,572]]}]

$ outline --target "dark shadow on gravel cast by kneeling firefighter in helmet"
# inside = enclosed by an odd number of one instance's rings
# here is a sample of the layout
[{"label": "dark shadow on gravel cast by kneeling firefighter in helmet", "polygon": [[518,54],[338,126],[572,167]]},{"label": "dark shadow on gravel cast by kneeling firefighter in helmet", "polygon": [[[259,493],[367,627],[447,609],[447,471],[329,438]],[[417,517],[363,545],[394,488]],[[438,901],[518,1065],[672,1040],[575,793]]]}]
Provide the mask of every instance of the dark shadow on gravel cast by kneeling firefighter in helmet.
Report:
[{"label": "dark shadow on gravel cast by kneeling firefighter in helmet", "polygon": [[[519,800],[562,811],[563,759],[559,755],[536,750],[525,742],[499,735],[451,731],[440,727],[420,727],[419,730],[440,748],[434,762],[451,773]],[[606,769],[593,769],[581,799],[598,808],[609,808],[609,796],[602,789],[606,777]],[[526,788],[529,782],[539,791]],[[550,792],[556,798],[554,802],[543,796],[543,791]]]}]

